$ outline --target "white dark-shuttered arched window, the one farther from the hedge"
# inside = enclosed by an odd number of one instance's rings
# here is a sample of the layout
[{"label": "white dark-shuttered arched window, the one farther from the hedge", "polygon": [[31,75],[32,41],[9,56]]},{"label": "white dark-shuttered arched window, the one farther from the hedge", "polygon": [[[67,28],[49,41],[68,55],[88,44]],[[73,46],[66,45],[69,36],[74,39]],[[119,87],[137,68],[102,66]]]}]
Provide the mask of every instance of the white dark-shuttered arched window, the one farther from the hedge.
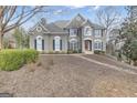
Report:
[{"label": "white dark-shuttered arched window, the one farther from the hedge", "polygon": [[53,50],[61,51],[62,50],[62,40],[61,37],[56,35],[53,39]]}]

